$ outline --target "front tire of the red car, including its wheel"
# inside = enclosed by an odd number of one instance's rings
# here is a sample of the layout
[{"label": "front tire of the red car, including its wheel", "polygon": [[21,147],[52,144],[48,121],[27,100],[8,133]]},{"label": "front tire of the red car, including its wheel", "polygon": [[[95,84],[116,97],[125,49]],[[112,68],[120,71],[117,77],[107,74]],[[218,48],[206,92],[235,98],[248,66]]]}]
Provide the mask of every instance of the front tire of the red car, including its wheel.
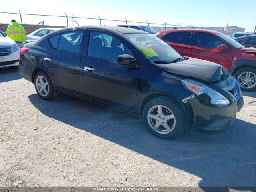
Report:
[{"label": "front tire of the red car, including its wheel", "polygon": [[[247,75],[249,74],[249,75]],[[246,78],[248,76],[248,78]],[[256,78],[256,69],[252,67],[244,67],[238,70],[234,77],[240,84],[240,88],[243,91],[251,91],[256,88],[256,80],[255,81],[249,81],[251,78]],[[243,78],[246,78],[246,80],[243,80]]]}]

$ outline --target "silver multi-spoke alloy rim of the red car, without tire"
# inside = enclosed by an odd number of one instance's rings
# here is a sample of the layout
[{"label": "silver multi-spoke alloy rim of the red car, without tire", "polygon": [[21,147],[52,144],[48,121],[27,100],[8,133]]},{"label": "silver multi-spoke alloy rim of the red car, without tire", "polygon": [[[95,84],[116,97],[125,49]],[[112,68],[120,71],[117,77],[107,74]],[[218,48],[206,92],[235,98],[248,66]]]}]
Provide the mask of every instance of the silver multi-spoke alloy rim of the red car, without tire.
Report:
[{"label": "silver multi-spoke alloy rim of the red car, without tire", "polygon": [[237,81],[242,88],[250,89],[256,85],[256,74],[252,72],[243,72],[238,76]]}]

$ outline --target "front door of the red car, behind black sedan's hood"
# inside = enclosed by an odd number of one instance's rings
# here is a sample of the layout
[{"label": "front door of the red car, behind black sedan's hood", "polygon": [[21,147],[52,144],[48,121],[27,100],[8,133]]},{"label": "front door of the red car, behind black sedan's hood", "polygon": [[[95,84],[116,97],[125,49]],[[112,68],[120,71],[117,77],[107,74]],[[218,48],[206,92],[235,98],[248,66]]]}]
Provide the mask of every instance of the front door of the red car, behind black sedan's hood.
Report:
[{"label": "front door of the red car, behind black sedan's hood", "polygon": [[[193,46],[191,57],[211,61],[229,69],[232,63],[232,49],[217,36],[205,32],[193,32]],[[218,50],[217,47],[225,44],[230,50]]]}]

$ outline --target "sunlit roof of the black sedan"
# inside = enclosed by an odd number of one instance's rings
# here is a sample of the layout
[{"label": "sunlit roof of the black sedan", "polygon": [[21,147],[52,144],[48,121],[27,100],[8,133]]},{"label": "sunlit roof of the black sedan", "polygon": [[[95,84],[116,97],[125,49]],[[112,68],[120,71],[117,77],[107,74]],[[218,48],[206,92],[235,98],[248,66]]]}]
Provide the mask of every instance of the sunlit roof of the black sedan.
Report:
[{"label": "sunlit roof of the black sedan", "polygon": [[[79,28],[99,29],[99,30],[105,30],[105,31],[108,31],[108,32],[119,33],[119,34],[128,34],[128,33],[146,33],[146,34],[149,34],[148,32],[141,31],[141,30],[138,30],[138,29],[118,27],[118,26],[98,26],[98,25],[96,25],[96,26],[66,27],[66,28],[63,28],[63,30],[79,29]],[[59,30],[59,32],[60,32],[60,30]]]}]

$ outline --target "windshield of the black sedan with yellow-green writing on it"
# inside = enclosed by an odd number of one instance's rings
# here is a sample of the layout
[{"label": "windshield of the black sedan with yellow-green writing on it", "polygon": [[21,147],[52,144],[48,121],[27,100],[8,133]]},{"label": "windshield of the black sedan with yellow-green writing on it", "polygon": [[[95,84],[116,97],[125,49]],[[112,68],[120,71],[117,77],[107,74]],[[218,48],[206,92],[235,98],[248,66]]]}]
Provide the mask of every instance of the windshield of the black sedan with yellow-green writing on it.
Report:
[{"label": "windshield of the black sedan with yellow-green writing on it", "polygon": [[172,47],[152,34],[124,34],[152,62],[170,63],[183,59]]}]

